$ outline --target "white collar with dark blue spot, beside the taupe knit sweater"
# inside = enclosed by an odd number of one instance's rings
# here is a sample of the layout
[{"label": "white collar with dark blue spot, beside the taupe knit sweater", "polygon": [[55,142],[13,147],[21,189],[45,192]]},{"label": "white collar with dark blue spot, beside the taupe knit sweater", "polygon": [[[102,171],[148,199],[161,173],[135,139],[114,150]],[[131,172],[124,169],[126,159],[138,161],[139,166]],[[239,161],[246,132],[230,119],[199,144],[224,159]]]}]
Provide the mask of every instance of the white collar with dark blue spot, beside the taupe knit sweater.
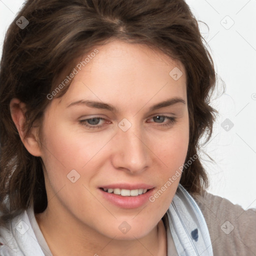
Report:
[{"label": "white collar with dark blue spot, beside the taupe knit sweater", "polygon": [[[178,185],[166,212],[179,256],[212,256],[208,227],[192,196]],[[170,252],[168,251],[168,255]]]}]

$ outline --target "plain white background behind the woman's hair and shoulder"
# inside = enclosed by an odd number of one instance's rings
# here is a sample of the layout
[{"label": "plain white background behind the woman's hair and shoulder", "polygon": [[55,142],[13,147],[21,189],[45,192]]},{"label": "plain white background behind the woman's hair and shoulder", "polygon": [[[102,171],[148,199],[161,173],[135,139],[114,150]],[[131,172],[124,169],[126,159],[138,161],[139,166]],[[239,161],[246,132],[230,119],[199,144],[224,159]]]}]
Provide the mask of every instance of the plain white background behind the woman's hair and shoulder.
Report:
[{"label": "plain white background behind the woman's hair and shoulder", "polygon": [[[210,177],[208,191],[244,209],[256,207],[256,0],[186,2],[196,19],[209,27],[199,22],[218,77],[226,86],[225,92],[212,100],[219,116],[203,147],[216,162],[202,156]],[[22,3],[0,0],[0,51],[7,26]],[[220,79],[218,85],[220,93]],[[223,123],[227,118],[229,123]]]}]

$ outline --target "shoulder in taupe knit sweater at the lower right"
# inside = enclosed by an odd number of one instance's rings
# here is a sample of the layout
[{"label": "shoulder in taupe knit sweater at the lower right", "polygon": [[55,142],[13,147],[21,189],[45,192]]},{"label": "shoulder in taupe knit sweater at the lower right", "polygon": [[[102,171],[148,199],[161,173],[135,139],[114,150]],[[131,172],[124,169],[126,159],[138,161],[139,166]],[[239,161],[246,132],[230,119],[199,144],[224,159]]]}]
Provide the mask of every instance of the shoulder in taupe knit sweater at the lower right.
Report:
[{"label": "shoulder in taupe knit sweater at the lower right", "polygon": [[208,226],[214,255],[256,255],[256,209],[244,210],[207,191],[191,196]]}]

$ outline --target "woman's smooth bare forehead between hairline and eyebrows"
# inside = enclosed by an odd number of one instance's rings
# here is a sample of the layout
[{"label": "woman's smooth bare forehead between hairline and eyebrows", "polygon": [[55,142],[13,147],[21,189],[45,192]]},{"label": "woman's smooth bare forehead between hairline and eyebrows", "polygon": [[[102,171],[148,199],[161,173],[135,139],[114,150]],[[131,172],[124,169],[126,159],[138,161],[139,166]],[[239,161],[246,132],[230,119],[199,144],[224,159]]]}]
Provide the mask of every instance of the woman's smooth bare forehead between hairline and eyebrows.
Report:
[{"label": "woman's smooth bare forehead between hairline and eyebrows", "polygon": [[129,99],[130,104],[151,97],[186,98],[183,64],[145,44],[113,40],[95,46],[74,63],[77,72],[60,98],[65,104],[87,97],[104,102]]}]

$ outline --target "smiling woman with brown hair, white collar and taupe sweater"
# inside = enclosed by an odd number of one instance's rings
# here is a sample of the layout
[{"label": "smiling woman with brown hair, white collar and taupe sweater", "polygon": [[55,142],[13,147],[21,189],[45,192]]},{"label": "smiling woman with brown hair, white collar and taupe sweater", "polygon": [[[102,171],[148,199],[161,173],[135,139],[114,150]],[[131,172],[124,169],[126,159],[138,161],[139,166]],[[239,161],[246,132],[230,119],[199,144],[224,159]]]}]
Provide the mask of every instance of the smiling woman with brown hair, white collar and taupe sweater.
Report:
[{"label": "smiling woman with brown hair, white collar and taupe sweater", "polygon": [[28,0],[0,70],[0,255],[255,255],[206,192],[212,59],[183,0]]}]

